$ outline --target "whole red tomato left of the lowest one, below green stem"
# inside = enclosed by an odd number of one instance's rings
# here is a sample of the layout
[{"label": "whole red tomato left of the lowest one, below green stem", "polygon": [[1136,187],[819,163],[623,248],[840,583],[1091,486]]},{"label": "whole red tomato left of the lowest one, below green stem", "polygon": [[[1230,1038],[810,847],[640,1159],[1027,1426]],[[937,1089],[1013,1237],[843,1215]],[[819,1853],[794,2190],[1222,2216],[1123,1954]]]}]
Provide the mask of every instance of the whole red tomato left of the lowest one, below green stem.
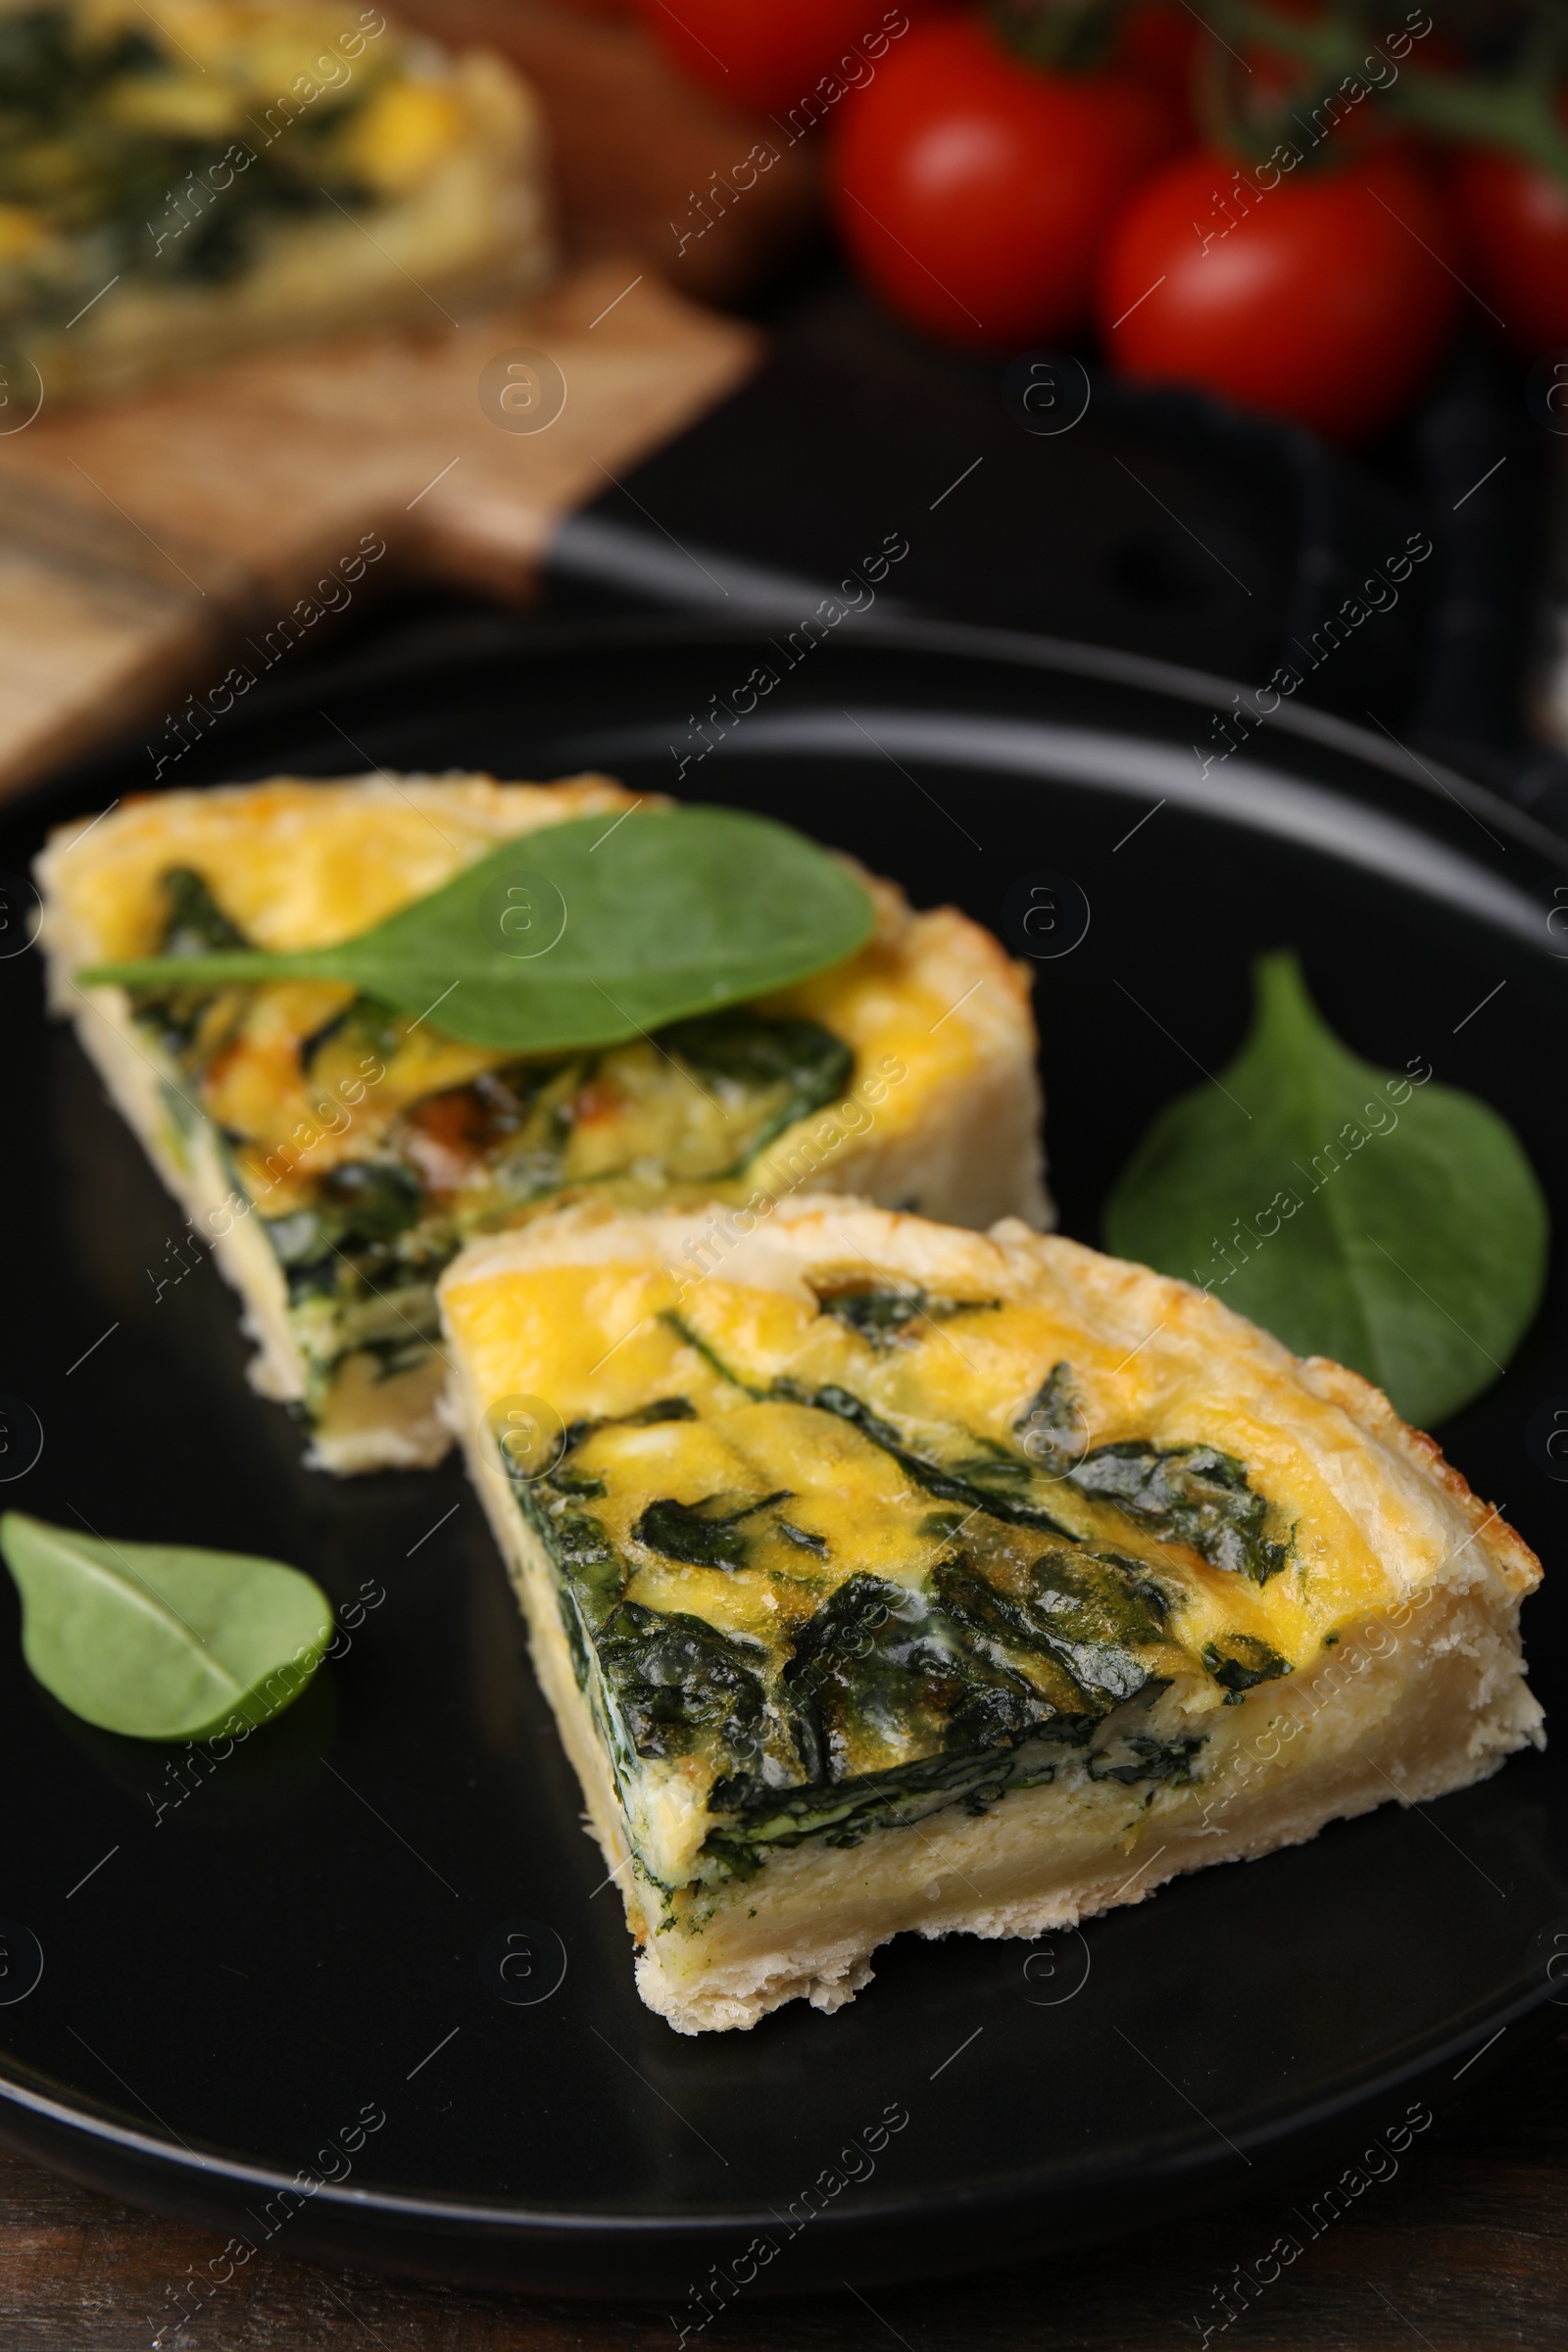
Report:
[{"label": "whole red tomato left of the lowest one, below green stem", "polygon": [[1178,136],[1140,82],[1044,73],[973,19],[938,19],[839,108],[835,212],[860,270],[917,327],[1063,341],[1088,320],[1117,205]]}]

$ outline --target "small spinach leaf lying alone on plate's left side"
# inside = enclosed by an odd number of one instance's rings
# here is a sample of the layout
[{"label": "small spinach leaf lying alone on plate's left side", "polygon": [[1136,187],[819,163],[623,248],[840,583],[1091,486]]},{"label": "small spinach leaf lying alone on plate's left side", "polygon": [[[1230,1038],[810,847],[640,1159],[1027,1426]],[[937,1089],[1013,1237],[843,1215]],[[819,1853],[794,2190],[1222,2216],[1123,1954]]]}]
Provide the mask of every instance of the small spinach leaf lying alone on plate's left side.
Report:
[{"label": "small spinach leaf lying alone on plate's left side", "polygon": [[103,1543],[9,1510],[21,1651],[63,1708],[143,1740],[216,1738],[299,1698],[331,1642],[320,1585],[277,1559]]}]

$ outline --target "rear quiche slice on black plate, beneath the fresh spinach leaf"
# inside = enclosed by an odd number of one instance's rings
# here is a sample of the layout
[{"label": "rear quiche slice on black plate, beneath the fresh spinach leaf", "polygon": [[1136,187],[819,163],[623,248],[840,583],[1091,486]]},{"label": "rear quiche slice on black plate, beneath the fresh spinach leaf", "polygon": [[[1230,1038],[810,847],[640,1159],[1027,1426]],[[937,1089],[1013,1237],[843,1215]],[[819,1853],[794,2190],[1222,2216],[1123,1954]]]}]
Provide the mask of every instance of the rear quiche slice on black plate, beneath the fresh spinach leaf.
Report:
[{"label": "rear quiche slice on black plate, beneath the fresh spinach leaf", "polygon": [[463,1044],[440,1004],[390,1014],[341,981],[73,978],[350,938],[508,837],[630,807],[592,776],[275,779],[125,802],[38,861],[54,1009],[242,1291],[256,1388],[303,1409],[329,1470],[447,1451],[435,1279],[562,1197],[717,1214],[816,1183],[954,1223],[1046,1216],[1027,974],[886,882],[846,964],[595,1054]]}]

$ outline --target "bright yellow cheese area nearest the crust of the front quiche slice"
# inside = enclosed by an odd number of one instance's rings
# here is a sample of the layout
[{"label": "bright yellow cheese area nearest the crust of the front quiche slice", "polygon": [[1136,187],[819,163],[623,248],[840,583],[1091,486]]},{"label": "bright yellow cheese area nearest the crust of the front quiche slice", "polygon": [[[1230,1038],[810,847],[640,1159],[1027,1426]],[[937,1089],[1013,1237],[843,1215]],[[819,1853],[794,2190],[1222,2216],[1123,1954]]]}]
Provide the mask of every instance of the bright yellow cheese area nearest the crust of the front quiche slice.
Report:
[{"label": "bright yellow cheese area nearest the crust of the front quiche slice", "polygon": [[[929,1510],[929,1489],[839,1411],[780,1402],[790,1390],[809,1399],[839,1390],[898,1430],[912,1458],[938,1470],[964,1463],[952,1472],[959,1484],[973,1477],[980,1489],[994,1486],[994,1498],[1016,1496],[1041,1510],[1072,1538],[1114,1541],[1131,1557],[1178,1573],[1182,1609],[1204,1637],[1241,1628],[1298,1658],[1335,1621],[1392,1597],[1387,1571],[1314,1449],[1267,1418],[1267,1399],[1253,1414],[1220,1399],[1194,1409],[1157,1371],[1117,1369],[1093,1329],[1032,1303],[933,1303],[912,1284],[879,1289],[867,1268],[858,1279],[839,1279],[842,1287],[825,1291],[827,1303],[743,1289],[719,1275],[682,1298],[665,1272],[545,1265],[458,1279],[447,1291],[447,1319],[487,1406],[531,1395],[552,1406],[562,1428],[592,1421],[609,1430],[658,1397],[689,1397],[698,1423],[590,1442],[595,1458],[609,1449],[628,1470],[637,1461],[658,1461],[661,1477],[679,1470],[677,1484],[658,1486],[661,1494],[696,1503],[705,1479],[736,1491],[748,1484],[764,1491],[785,1475],[804,1479],[811,1501],[802,1501],[802,1524],[825,1538],[835,1562],[832,1571],[811,1569],[816,1585],[856,1566],[886,1566],[889,1543],[903,1538],[889,1534],[884,1512],[891,1508],[903,1526],[910,1510]],[[898,1322],[896,1338],[872,1343],[856,1324],[882,1298],[917,1305]],[[1030,1428],[1030,1406],[1063,1364],[1067,1378],[1058,1392],[1070,1409],[1056,1456]],[[1333,1421],[1333,1409],[1324,1406],[1321,1418]],[[1140,1522],[1098,1496],[1084,1461],[1128,1444],[1166,1456],[1211,1446],[1241,1463],[1246,1494],[1267,1505],[1262,1541],[1276,1543],[1279,1562],[1260,1555],[1239,1571],[1213,1564],[1192,1543],[1152,1531],[1150,1515]],[[719,1456],[715,1446],[726,1451]],[[1006,1472],[1001,1482],[987,1465],[987,1446]],[[632,1482],[625,1494],[632,1517],[639,1494]],[[776,1550],[766,1557],[778,1566]],[[799,1557],[783,1559],[802,1569]],[[733,1583],[722,1590],[733,1609]],[[755,1611],[762,1599],[755,1595],[748,1606]]]}]

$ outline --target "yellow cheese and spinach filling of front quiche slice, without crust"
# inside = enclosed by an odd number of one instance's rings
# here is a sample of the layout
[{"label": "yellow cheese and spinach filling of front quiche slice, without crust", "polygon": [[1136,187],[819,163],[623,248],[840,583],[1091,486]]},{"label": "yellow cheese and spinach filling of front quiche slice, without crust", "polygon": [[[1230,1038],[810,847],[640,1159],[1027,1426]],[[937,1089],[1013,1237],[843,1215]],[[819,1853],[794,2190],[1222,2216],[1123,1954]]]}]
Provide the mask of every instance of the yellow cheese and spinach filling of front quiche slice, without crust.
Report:
[{"label": "yellow cheese and spinach filling of front quiche slice, without crust", "polygon": [[496,1244],[442,1289],[665,1886],[1070,1759],[1180,1785],[1213,1710],[1399,1590],[1288,1371],[1194,1392],[1065,1298],[846,1256],[748,1284]]}]

